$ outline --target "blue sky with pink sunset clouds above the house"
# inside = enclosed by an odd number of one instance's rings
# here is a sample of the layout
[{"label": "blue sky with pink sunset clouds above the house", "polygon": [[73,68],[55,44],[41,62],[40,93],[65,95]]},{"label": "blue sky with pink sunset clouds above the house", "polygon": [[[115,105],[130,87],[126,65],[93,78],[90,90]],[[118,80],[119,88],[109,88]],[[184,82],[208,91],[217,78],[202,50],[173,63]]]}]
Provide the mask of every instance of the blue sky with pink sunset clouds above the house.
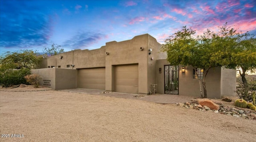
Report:
[{"label": "blue sky with pink sunset clouds above the house", "polygon": [[256,34],[256,0],[0,0],[0,53],[91,50],[141,34],[164,43],[182,26],[200,34],[226,22]]}]

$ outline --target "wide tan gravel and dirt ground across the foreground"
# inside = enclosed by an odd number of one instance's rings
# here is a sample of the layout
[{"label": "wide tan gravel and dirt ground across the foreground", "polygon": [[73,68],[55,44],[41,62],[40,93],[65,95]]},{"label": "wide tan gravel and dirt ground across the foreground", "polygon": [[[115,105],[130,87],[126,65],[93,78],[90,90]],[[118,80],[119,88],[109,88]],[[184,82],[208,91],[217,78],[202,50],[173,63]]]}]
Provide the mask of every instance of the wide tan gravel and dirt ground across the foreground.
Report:
[{"label": "wide tan gravel and dirt ground across the foreground", "polygon": [[0,89],[1,142],[256,142],[255,130],[255,120],[171,104],[48,88]]}]

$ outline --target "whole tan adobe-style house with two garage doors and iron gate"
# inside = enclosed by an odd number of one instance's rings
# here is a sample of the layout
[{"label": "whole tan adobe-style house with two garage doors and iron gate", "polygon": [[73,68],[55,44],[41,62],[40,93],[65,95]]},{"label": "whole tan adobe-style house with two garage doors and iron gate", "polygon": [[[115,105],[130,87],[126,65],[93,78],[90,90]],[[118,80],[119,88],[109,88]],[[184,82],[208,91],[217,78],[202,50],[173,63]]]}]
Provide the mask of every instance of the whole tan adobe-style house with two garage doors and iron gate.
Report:
[{"label": "whole tan adobe-style house with two garage doors and iron gate", "polygon": [[[111,41],[94,50],[73,50],[44,58],[40,85],[53,89],[99,89],[108,92],[149,95],[177,94],[200,97],[198,77],[202,73],[182,65],[172,66],[162,45],[149,34],[126,41]],[[213,68],[206,78],[209,98],[235,95],[236,71]]]}]

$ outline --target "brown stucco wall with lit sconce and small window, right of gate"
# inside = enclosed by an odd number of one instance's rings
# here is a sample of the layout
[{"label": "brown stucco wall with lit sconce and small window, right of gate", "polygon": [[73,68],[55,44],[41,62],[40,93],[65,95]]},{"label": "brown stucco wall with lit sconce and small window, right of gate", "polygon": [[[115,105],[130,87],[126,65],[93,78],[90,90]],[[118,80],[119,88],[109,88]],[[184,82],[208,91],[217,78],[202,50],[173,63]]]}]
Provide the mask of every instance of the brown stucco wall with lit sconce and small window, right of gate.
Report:
[{"label": "brown stucco wall with lit sconce and small window, right of gate", "polygon": [[[221,98],[220,80],[221,67],[210,69],[206,76],[206,90],[208,98]],[[192,66],[187,66],[185,73],[182,73],[181,70],[179,71],[179,95],[200,97],[199,81],[198,79],[193,79]]]}]

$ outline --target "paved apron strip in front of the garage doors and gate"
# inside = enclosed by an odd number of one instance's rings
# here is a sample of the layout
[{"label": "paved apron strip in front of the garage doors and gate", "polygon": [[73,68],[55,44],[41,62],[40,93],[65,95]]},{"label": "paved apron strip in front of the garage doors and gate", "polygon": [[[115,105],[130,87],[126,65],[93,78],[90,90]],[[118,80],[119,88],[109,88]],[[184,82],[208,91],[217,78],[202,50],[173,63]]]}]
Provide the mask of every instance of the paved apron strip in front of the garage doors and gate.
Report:
[{"label": "paved apron strip in front of the garage doors and gate", "polygon": [[135,100],[142,100],[142,101],[162,103],[162,104],[186,103],[186,102],[191,102],[191,100],[195,98],[192,96],[180,96],[180,95],[170,95],[170,94],[139,96],[138,94],[118,93],[118,92],[104,93],[105,90],[80,89],[80,88],[62,89],[57,91],[83,93],[83,94],[89,94],[89,95],[100,95],[100,96],[108,96],[108,97],[116,97],[116,98],[124,98],[124,99],[135,99]]}]

